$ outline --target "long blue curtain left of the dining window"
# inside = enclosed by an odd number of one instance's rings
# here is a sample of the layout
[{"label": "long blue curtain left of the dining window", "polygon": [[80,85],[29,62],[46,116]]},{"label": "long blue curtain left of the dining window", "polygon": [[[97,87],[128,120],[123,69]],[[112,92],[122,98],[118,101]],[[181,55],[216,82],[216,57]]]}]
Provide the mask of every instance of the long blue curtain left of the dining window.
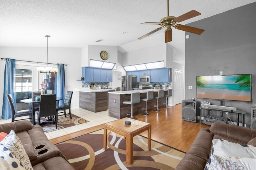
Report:
[{"label": "long blue curtain left of the dining window", "polygon": [[7,95],[11,94],[14,100],[14,108],[16,108],[16,95],[14,92],[14,74],[15,74],[15,59],[6,58],[4,68],[4,99],[2,109],[2,119],[12,118],[12,110],[8,103]]}]

